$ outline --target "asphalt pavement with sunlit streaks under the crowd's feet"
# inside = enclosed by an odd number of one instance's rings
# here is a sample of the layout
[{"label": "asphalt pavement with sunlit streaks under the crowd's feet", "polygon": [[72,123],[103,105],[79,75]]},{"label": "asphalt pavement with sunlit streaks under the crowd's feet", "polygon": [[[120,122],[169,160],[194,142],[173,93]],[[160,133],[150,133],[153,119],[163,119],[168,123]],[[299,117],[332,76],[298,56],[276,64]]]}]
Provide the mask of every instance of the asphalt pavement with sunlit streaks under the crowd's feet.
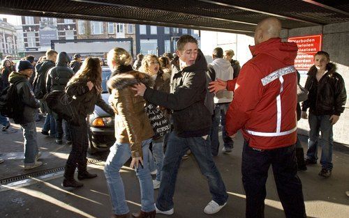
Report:
[{"label": "asphalt pavement with sunlit streaks under the crowd's feet", "polygon": [[[23,169],[23,137],[18,125],[8,132],[0,132],[0,218],[74,218],[101,217],[112,215],[110,198],[105,183],[103,166],[106,153],[89,156],[89,171],[98,177],[83,180],[81,189],[61,187],[63,167],[70,152],[70,146],[57,145],[51,137],[40,134],[43,122],[38,123],[38,145],[43,152],[44,165],[31,171]],[[301,137],[306,148],[306,137]],[[221,145],[222,145],[221,141]],[[241,156],[243,139],[241,134],[235,140],[230,154],[220,152],[214,161],[221,171],[229,195],[228,204],[216,215],[205,215],[203,209],[211,196],[207,181],[201,175],[195,158],[191,155],[181,163],[174,194],[174,215],[156,217],[229,217],[242,218],[245,210],[245,194],[242,187]],[[319,150],[320,155],[320,150]],[[306,213],[308,217],[345,218],[349,214],[349,149],[335,145],[334,169],[330,178],[320,178],[320,164],[311,165],[308,171],[299,172],[302,180]],[[140,210],[140,187],[135,173],[125,164],[121,170],[126,189],[126,200],[131,212]],[[155,191],[155,196],[158,191]],[[267,180],[265,217],[285,217],[272,175]]]}]

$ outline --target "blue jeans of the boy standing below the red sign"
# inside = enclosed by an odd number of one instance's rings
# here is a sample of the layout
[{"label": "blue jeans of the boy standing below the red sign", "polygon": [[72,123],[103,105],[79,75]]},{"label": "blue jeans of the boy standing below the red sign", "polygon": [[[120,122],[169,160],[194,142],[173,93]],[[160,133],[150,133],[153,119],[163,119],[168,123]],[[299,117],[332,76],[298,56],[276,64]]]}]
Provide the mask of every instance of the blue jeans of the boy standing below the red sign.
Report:
[{"label": "blue jeans of the boy standing below the red sign", "polygon": [[[309,139],[306,159],[318,159],[318,143],[321,146],[320,164],[322,168],[332,170],[332,151],[333,151],[333,125],[329,120],[329,115],[315,116],[309,113]],[[321,132],[321,139],[319,133]]]}]

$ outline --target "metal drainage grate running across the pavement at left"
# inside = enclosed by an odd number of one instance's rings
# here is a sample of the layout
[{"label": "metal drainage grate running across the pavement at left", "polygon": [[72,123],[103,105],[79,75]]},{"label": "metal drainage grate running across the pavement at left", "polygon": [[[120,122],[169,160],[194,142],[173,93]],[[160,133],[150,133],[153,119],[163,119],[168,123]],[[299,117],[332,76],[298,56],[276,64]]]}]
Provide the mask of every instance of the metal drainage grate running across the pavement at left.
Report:
[{"label": "metal drainage grate running across the pavement at left", "polygon": [[[88,159],[87,164],[96,164],[98,162],[103,162],[103,161],[105,161],[106,158],[107,158],[106,154],[99,155],[99,156],[95,157],[94,159]],[[20,175],[20,176],[13,176],[10,178],[4,178],[4,179],[0,180],[0,185],[6,185],[6,184],[12,183],[12,182],[27,180],[29,178],[36,178],[38,176],[45,176],[47,174],[57,173],[60,171],[64,171],[64,166],[59,166],[59,167],[55,167],[52,169],[45,169],[43,171],[38,171],[38,172],[33,172],[33,173],[27,173],[27,174]]]}]

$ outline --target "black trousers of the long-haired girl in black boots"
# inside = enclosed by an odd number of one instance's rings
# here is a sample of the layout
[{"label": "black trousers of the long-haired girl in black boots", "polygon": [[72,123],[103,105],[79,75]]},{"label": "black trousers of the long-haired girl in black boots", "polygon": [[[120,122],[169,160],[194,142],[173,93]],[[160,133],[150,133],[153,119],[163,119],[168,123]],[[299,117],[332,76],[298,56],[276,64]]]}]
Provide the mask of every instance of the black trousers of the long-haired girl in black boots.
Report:
[{"label": "black trousers of the long-haired girl in black boots", "polygon": [[75,169],[79,173],[87,171],[87,149],[89,148],[89,139],[87,135],[87,121],[85,116],[79,116],[79,126],[68,123],[72,148],[66,162],[64,178],[73,180]]}]

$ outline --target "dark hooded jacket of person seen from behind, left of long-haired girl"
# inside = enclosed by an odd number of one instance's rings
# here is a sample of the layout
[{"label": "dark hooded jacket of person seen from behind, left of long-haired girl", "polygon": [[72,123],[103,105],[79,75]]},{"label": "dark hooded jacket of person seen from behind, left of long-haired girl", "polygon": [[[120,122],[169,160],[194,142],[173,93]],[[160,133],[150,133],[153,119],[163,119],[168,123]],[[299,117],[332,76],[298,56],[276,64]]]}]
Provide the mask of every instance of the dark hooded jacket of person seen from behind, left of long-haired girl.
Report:
[{"label": "dark hooded jacket of person seen from behind, left of long-haired girl", "polygon": [[68,67],[69,62],[68,54],[66,52],[59,52],[57,65],[47,72],[47,93],[51,91],[64,91],[69,79],[74,75],[74,71]]}]

